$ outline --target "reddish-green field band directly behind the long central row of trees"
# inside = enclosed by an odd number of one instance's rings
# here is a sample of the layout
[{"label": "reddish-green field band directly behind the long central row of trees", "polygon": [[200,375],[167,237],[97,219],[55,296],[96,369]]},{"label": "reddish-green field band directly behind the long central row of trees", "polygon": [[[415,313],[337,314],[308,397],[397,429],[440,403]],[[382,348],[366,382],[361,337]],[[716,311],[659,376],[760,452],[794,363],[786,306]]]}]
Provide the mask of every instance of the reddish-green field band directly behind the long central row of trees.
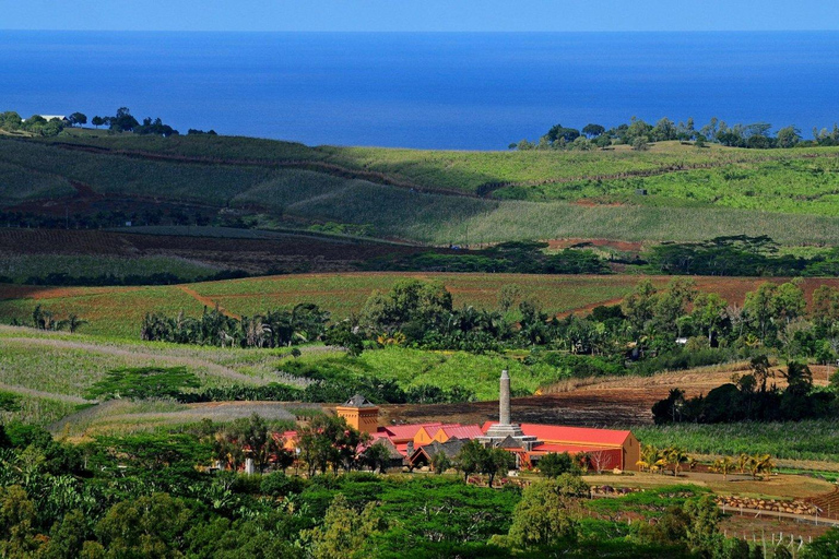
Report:
[{"label": "reddish-green field band directly behind the long central row of trees", "polygon": [[[215,305],[236,316],[253,316],[273,309],[291,309],[315,302],[335,320],[359,312],[370,294],[387,292],[402,277],[437,280],[451,292],[454,306],[497,308],[498,292],[513,283],[523,296],[539,301],[552,314],[590,311],[598,305],[615,305],[643,277],[663,287],[667,276],[635,275],[524,275],[357,272],[345,274],[296,274],[225,280],[157,287],[42,287],[0,284],[0,320],[27,323],[36,305],[57,318],[71,313],[87,321],[82,332],[138,340],[140,323],[149,312],[197,317]],[[729,302],[742,305],[745,294],[765,281],[784,278],[695,277],[704,292],[720,293]],[[839,286],[836,278],[807,278],[802,287],[810,299],[819,285]]]}]

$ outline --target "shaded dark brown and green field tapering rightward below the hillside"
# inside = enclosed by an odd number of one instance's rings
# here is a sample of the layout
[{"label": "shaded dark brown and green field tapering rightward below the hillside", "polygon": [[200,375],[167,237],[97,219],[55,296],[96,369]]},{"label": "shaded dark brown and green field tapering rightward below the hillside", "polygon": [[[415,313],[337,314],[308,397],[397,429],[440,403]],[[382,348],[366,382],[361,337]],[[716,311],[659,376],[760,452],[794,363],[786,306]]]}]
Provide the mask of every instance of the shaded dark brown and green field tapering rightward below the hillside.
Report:
[{"label": "shaded dark brown and green field tapering rightward below the hillside", "polygon": [[139,229],[0,228],[0,276],[22,282],[47,273],[88,277],[170,273],[192,281],[222,270],[344,272],[359,270],[373,259],[427,250],[305,233],[186,226]]}]

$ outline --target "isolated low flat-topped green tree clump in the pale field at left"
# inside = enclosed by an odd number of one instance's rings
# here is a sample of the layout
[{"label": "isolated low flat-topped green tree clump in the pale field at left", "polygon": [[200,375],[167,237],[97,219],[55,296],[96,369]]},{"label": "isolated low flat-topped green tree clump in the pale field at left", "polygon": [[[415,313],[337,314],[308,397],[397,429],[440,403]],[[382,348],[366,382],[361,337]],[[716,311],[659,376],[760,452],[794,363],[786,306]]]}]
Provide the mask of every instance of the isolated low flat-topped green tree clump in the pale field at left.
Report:
[{"label": "isolated low flat-topped green tree clump in the pale field at left", "polygon": [[90,400],[177,397],[184,389],[200,386],[186,367],[135,367],[109,371],[87,391]]}]

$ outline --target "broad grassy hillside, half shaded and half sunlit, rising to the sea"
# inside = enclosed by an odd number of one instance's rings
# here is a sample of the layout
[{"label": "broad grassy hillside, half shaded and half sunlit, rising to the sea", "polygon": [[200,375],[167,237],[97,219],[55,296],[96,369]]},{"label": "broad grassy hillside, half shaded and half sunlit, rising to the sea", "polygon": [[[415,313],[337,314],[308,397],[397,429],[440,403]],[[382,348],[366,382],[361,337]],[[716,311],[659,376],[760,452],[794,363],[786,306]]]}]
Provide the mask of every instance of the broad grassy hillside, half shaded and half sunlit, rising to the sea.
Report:
[{"label": "broad grassy hillside, half shaded and half sunlit, rising to the sea", "polygon": [[[55,214],[56,204],[33,201],[64,197],[91,213],[128,204],[143,223],[150,203],[167,202],[212,219],[335,222],[434,245],[740,234],[839,243],[838,148],[435,152],[85,134],[0,145],[0,205],[10,211]],[[498,189],[474,197],[487,183]]]}]

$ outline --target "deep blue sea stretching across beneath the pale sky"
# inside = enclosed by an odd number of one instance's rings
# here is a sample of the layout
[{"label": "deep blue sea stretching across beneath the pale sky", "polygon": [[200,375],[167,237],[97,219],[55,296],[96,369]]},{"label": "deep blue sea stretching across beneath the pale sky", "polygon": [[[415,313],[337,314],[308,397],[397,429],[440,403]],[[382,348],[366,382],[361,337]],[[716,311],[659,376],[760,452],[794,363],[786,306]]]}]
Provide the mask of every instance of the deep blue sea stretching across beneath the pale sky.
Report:
[{"label": "deep blue sea stretching across beneath the pale sky", "polygon": [[504,150],[552,124],[839,121],[839,33],[0,32],[0,110]]}]

